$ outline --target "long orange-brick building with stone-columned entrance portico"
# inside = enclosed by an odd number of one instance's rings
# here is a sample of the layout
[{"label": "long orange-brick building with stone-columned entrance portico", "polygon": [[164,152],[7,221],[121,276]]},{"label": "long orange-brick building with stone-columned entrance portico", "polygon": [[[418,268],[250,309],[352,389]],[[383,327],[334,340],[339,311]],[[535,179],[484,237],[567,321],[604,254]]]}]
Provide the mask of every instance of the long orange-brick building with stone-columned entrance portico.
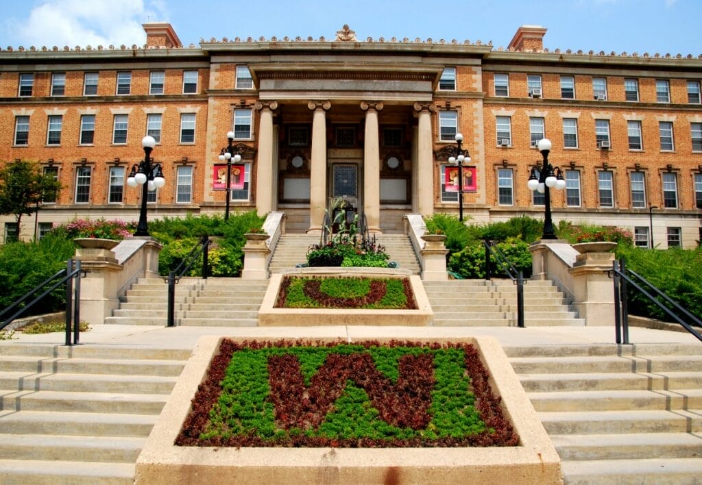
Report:
[{"label": "long orange-brick building with stone-columned entrance portico", "polygon": [[0,51],[0,161],[39,161],[63,186],[21,228],[0,216],[5,238],[136,220],[141,191],[125,181],[147,134],[166,178],[149,218],[223,213],[232,131],[232,210],[283,211],[291,232],[319,230],[336,197],[379,232],[402,230],[406,213],[457,213],[448,159],[462,133],[472,220],[543,216],[527,180],[545,137],[567,182],[551,191],[555,221],[623,227],[640,246],[701,239],[701,58],[551,52],[537,26],[507,48],[362,40],[347,26],[331,40],[185,47],[168,24],[144,28],[143,47]]}]

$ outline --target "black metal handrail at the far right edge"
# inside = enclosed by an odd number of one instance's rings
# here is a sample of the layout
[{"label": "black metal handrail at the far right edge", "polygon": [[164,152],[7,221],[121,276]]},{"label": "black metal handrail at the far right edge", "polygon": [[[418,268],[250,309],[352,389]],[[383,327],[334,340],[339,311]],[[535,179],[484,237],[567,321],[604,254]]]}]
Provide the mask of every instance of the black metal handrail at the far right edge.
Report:
[{"label": "black metal handrail at the far right edge", "polygon": [[[624,258],[620,260],[615,260],[612,263],[612,269],[608,272],[609,277],[614,281],[614,327],[616,333],[616,343],[628,344],[629,342],[629,298],[628,298],[628,285],[631,285],[636,291],[644,295],[646,298],[655,303],[665,314],[674,319],[678,324],[687,330],[689,333],[694,335],[698,340],[702,341],[702,335],[696,331],[694,328],[680,318],[680,314],[687,317],[689,320],[693,321],[694,324],[702,326],[702,321],[695,317],[693,314],[685,310],[680,304],[672,300],[668,295],[663,293],[660,289],[656,288],[650,281],[642,277],[640,274],[626,268],[626,263]],[[632,279],[634,277],[642,284],[646,285],[647,288],[641,286],[637,281]],[[651,293],[655,293],[656,296]],[[658,298],[656,298],[658,297]],[[678,314],[675,314],[670,307],[663,305],[661,299],[671,305]]]}]

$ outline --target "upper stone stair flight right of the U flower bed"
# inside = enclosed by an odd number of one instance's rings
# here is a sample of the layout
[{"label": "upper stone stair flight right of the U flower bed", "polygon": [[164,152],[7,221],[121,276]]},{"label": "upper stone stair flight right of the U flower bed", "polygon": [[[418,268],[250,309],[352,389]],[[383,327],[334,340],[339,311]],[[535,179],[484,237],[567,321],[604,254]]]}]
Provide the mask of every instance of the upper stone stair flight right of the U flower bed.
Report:
[{"label": "upper stone stair flight right of the U flower bed", "polygon": [[[424,281],[435,326],[517,326],[517,286],[509,279]],[[525,326],[585,325],[551,281],[524,284]]]}]

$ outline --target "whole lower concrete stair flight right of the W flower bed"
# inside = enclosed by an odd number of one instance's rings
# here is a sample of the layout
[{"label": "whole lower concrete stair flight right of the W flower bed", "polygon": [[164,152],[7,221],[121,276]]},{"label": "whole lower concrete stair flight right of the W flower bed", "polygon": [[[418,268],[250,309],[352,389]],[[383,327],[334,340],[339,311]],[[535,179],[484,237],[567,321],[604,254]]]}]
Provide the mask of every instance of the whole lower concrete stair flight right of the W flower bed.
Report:
[{"label": "whole lower concrete stair flight right of the W flower bed", "polygon": [[507,347],[566,484],[702,483],[702,347]]}]

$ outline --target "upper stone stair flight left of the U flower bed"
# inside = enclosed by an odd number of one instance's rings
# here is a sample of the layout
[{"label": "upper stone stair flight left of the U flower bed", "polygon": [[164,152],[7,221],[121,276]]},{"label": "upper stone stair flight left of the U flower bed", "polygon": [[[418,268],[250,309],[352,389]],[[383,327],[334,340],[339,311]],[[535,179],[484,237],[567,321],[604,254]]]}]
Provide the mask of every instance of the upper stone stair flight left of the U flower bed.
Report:
[{"label": "upper stone stair flight left of the U flower bed", "polygon": [[[182,278],[176,284],[176,325],[256,326],[267,287],[267,280]],[[167,307],[168,285],[140,279],[105,324],[166,326]]]}]

